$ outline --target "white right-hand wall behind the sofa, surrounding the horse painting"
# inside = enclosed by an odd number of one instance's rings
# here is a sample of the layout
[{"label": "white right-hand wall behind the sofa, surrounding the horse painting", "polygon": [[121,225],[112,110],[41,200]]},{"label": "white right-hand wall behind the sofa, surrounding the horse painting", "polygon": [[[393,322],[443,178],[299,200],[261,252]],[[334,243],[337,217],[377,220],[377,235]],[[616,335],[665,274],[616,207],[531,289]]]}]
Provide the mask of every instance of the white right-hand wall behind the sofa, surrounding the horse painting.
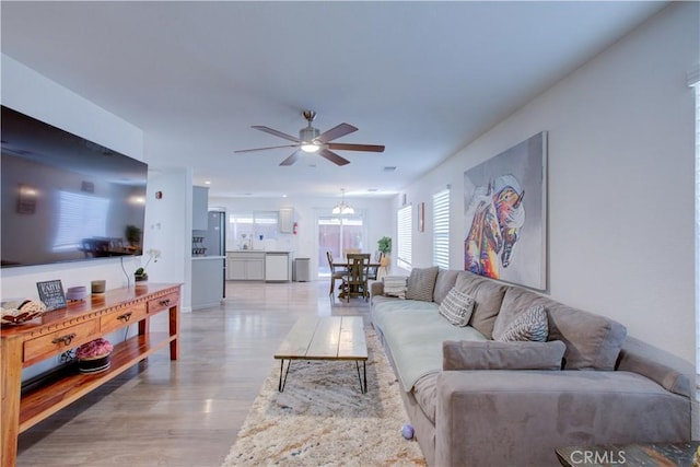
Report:
[{"label": "white right-hand wall behind the sofa, surrounding the horse painting", "polygon": [[700,56],[699,7],[669,5],[408,187],[408,202],[427,207],[425,233],[413,229],[413,264],[432,262],[431,196],[451,184],[451,267],[463,269],[464,171],[547,130],[547,292],[695,362],[695,100],[686,73]]}]

